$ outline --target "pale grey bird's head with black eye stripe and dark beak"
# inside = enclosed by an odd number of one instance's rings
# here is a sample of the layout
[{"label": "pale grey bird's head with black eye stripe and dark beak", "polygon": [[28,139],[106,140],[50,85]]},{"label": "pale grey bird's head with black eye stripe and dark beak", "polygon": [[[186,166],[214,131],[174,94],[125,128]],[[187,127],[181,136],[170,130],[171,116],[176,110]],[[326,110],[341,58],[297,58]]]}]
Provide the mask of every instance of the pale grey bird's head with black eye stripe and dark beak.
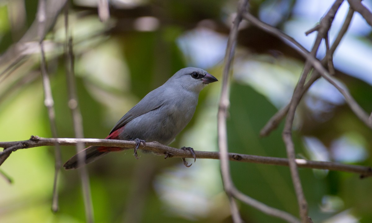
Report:
[{"label": "pale grey bird's head with black eye stripe and dark beak", "polygon": [[203,69],[186,67],[177,71],[169,81],[173,84],[179,84],[186,90],[199,93],[203,87],[218,80]]}]

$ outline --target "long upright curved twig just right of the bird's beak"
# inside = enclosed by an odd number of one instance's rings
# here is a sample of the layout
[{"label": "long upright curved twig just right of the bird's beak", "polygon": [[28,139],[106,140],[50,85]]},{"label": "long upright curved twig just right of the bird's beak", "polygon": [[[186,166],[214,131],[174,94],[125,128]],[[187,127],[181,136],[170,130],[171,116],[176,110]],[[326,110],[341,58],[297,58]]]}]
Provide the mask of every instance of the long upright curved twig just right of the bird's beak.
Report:
[{"label": "long upright curved twig just right of the bird's beak", "polygon": [[221,98],[219,100],[219,109],[218,109],[218,148],[220,152],[220,168],[221,168],[221,175],[222,175],[222,182],[224,185],[224,190],[228,196],[230,201],[230,210],[232,215],[232,220],[234,223],[241,223],[243,220],[240,217],[240,213],[236,204],[236,201],[232,197],[232,190],[234,189],[234,183],[232,182],[231,175],[230,175],[230,165],[228,159],[228,145],[227,145],[227,126],[226,126],[226,117],[227,117],[227,110],[230,104],[229,100],[229,73],[230,67],[232,63],[232,59],[234,57],[235,46],[237,42],[238,36],[238,27],[239,23],[241,22],[242,14],[246,12],[248,6],[247,0],[240,0],[238,3],[237,8],[237,15],[235,17],[234,23],[232,24],[226,54],[224,59],[224,70],[223,70],[223,80],[222,80],[222,87],[221,87]]}]

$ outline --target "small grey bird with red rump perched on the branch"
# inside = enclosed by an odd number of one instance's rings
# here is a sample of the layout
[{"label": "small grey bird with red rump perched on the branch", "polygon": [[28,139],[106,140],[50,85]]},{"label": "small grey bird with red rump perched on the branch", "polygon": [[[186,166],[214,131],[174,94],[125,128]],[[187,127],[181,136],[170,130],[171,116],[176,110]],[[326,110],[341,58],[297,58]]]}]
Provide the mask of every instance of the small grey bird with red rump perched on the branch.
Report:
[{"label": "small grey bird with red rump perched on the branch", "polygon": [[[218,81],[207,71],[186,67],[177,71],[163,85],[150,91],[130,109],[112,128],[106,139],[134,140],[134,156],[142,142],[157,141],[169,145],[192,119],[198,104],[199,93],[208,84]],[[89,146],[80,153],[85,154],[84,162],[78,162],[79,153],[70,158],[63,167],[75,169],[93,162],[109,152],[125,148]],[[196,156],[193,148],[182,147]],[[188,163],[182,158],[186,167]]]}]

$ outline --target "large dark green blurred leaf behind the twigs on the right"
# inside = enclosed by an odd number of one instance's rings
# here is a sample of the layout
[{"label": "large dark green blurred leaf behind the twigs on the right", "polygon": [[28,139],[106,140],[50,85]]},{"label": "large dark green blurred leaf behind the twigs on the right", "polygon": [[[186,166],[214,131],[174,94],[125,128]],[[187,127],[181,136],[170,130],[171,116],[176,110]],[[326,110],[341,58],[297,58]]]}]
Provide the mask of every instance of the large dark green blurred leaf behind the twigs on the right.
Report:
[{"label": "large dark green blurred leaf behind the twigs on the right", "polygon": [[[228,118],[228,141],[231,152],[252,155],[286,157],[281,129],[268,137],[260,138],[259,131],[276,109],[265,97],[251,87],[233,83],[231,86],[231,108]],[[282,125],[281,125],[282,126]],[[293,134],[296,153],[302,153],[302,143]],[[325,185],[314,178],[310,169],[299,170],[302,185],[309,204],[320,202],[325,193]],[[273,207],[297,216],[298,207],[288,167],[262,164],[231,162],[231,174],[235,185],[243,193]],[[314,182],[317,181],[316,184]],[[312,205],[310,206],[312,207]],[[282,222],[269,217],[246,204],[241,204],[242,212],[253,222]],[[311,216],[319,210],[310,210]]]}]

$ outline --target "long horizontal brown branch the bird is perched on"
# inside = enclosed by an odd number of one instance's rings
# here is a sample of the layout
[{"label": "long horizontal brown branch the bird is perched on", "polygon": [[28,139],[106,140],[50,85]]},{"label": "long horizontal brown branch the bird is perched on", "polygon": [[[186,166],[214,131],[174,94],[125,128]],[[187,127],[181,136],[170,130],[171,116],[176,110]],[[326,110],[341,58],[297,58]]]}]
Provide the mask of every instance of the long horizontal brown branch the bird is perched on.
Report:
[{"label": "long horizontal brown branch the bird is perched on", "polygon": [[[77,143],[84,143],[86,146],[120,147],[123,148],[123,150],[133,149],[136,144],[134,141],[117,139],[42,138],[39,136],[31,136],[29,140],[0,142],[0,148],[4,148],[4,151],[0,152],[0,160],[3,159],[3,157],[7,154],[19,149],[28,149],[39,146],[54,146],[55,143],[63,146],[74,146]],[[173,148],[158,142],[147,142],[146,146],[141,144],[139,149],[164,154],[164,158],[193,158],[191,153],[184,151],[183,149]],[[220,159],[219,152],[195,151],[195,155],[198,159]],[[228,159],[230,161],[237,162],[288,166],[288,159],[270,156],[256,156],[230,152],[228,153]],[[371,167],[360,165],[340,164],[327,161],[312,161],[307,159],[296,159],[296,164],[299,168],[328,169],[331,171],[343,171],[360,174],[361,178],[372,176]]]}]

